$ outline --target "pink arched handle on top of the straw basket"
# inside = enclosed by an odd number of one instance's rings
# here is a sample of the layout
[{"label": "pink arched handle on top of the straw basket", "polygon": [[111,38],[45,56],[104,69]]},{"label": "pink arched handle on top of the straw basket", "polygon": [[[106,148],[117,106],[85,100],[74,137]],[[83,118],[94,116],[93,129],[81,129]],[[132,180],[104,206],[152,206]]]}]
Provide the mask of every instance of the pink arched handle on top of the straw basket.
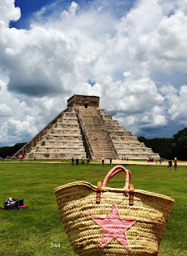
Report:
[{"label": "pink arched handle on top of the straw basket", "polygon": [[124,189],[129,189],[129,181],[131,178],[131,173],[129,170],[125,169],[125,167],[123,166],[114,166],[113,169],[109,170],[109,173],[105,176],[102,186],[105,187],[106,184],[109,182],[110,178],[113,178],[116,174],[119,174],[121,172],[125,172],[126,174]]}]

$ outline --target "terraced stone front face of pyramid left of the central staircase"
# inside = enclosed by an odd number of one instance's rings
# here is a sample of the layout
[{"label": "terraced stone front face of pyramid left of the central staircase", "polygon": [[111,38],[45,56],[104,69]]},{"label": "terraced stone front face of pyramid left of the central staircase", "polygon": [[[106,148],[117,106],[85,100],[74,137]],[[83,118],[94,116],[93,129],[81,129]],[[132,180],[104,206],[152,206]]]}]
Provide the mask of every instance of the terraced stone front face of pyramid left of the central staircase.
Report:
[{"label": "terraced stone front face of pyramid left of the central staircase", "polygon": [[68,108],[26,158],[86,158],[82,134],[74,108]]}]

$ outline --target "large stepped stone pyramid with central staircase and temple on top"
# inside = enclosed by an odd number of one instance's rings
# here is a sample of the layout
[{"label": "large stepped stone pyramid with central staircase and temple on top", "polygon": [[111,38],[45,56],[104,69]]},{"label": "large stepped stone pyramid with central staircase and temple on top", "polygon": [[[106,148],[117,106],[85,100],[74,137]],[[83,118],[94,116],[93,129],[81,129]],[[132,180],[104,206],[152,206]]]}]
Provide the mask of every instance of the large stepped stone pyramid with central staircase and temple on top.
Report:
[{"label": "large stepped stone pyramid with central staircase and temple on top", "polygon": [[160,158],[99,108],[99,97],[74,95],[62,111],[14,157],[58,158]]}]

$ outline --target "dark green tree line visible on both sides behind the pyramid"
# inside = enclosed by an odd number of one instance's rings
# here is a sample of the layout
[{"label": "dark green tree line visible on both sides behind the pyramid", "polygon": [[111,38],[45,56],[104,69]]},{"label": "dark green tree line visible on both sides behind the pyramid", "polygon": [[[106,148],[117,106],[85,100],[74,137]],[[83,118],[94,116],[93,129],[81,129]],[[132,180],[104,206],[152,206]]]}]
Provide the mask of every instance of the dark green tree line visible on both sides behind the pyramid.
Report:
[{"label": "dark green tree line visible on both sides behind the pyramid", "polygon": [[[173,138],[145,138],[138,137],[145,146],[152,148],[153,152],[160,154],[161,158],[187,161],[187,128],[179,130]],[[0,158],[12,157],[26,143],[17,143],[14,146],[0,147]]]}]

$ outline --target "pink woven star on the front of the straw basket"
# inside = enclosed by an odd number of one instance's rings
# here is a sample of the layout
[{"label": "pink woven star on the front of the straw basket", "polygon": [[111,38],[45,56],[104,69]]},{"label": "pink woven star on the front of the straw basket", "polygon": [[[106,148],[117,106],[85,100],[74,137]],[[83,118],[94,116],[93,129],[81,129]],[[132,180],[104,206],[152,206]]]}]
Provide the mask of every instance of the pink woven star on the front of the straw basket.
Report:
[{"label": "pink woven star on the front of the straw basket", "polygon": [[125,230],[128,230],[137,221],[136,218],[120,218],[119,212],[115,202],[113,202],[113,207],[109,217],[92,217],[98,225],[100,225],[104,232],[101,237],[100,246],[104,247],[113,238],[116,238],[118,242],[127,249],[130,250],[129,244],[126,238]]}]

